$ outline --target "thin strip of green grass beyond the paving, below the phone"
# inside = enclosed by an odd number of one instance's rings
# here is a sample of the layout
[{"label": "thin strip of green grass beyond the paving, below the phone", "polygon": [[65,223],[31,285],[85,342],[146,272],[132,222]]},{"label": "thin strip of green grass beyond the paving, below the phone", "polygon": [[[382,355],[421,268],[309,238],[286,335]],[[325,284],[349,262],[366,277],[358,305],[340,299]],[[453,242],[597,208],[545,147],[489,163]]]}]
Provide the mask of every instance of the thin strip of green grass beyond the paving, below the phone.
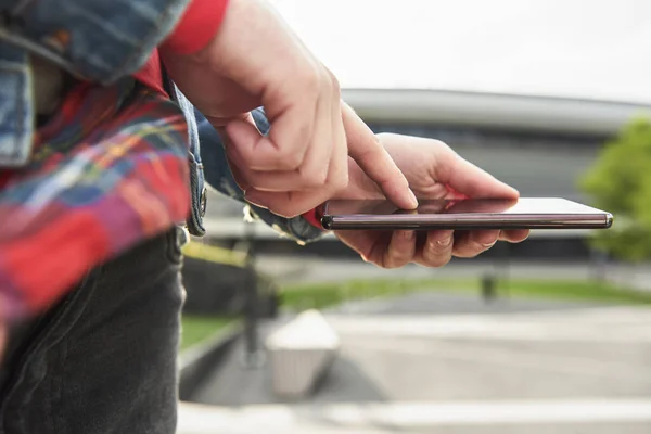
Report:
[{"label": "thin strip of green grass beyond the paving, below the phone", "polygon": [[[480,281],[478,279],[355,280],[345,283],[304,284],[282,289],[281,303],[283,307],[291,310],[322,309],[347,301],[392,297],[425,291],[478,293]],[[498,281],[497,292],[511,297],[651,304],[651,294],[589,281],[511,279]]]}]

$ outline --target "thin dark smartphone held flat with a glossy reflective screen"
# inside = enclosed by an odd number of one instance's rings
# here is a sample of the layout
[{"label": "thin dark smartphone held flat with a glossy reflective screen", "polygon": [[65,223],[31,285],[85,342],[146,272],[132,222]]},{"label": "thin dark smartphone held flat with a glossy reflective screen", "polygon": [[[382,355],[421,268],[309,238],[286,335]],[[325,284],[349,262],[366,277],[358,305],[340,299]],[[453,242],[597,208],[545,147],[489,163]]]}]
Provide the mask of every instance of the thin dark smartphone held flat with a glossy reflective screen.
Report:
[{"label": "thin dark smartphone held flat with a glossy reflective screen", "polygon": [[608,229],[613,216],[558,197],[422,200],[413,210],[385,200],[327,202],[321,225],[346,229]]}]

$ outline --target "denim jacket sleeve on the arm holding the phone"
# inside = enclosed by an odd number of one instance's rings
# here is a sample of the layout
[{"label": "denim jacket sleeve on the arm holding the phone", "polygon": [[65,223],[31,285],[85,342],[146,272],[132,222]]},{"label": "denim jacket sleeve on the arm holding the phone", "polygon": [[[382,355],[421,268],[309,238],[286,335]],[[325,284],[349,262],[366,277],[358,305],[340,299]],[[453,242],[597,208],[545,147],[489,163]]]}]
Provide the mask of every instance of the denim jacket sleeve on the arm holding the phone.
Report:
[{"label": "denim jacket sleeve on the arm holding the phone", "polygon": [[[205,179],[210,187],[229,197],[244,203],[246,205],[246,214],[252,219],[265,221],[277,232],[293,239],[298,244],[306,244],[321,238],[323,232],[301,216],[294,218],[279,217],[268,209],[248,204],[244,199],[244,192],[233,179],[226,158],[224,142],[219,135],[200,112],[195,112],[195,114]],[[253,117],[258,129],[263,133],[267,133],[269,123],[264,112],[255,110]]]}]

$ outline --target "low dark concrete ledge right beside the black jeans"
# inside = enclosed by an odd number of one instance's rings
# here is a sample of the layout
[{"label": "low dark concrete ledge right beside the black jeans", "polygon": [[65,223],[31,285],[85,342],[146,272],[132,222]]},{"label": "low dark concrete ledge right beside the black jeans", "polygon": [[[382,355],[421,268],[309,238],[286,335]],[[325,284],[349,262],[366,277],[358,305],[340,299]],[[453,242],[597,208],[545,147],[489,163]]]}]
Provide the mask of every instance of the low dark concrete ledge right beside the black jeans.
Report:
[{"label": "low dark concrete ledge right beside the black jeans", "polygon": [[179,398],[192,400],[206,375],[214,371],[242,334],[242,324],[233,321],[212,339],[183,350],[179,356]]}]

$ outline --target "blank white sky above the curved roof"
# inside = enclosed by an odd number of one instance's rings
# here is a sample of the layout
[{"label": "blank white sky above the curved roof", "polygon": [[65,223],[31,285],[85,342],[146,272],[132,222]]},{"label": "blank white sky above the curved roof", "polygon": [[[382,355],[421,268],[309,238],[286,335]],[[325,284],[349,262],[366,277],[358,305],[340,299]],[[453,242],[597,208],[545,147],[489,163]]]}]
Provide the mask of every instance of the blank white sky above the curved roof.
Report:
[{"label": "blank white sky above the curved roof", "polygon": [[273,0],[344,88],[651,103],[651,0]]}]

